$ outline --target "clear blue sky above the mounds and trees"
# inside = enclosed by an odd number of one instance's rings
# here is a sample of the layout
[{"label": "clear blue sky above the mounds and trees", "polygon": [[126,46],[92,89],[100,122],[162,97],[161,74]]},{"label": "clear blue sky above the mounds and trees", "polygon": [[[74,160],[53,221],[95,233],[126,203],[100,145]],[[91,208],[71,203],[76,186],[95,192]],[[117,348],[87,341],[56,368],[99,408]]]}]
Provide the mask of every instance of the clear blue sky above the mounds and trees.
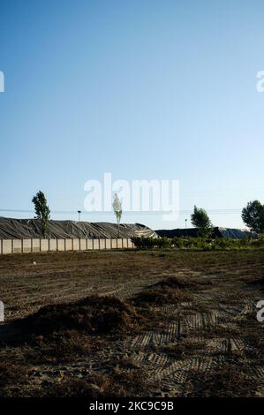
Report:
[{"label": "clear blue sky above the mounds and trees", "polygon": [[85,182],[111,172],[177,178],[182,210],[237,209],[211,219],[243,226],[238,209],[264,202],[263,16],[262,0],[1,0],[0,209],[42,190],[82,210]]}]

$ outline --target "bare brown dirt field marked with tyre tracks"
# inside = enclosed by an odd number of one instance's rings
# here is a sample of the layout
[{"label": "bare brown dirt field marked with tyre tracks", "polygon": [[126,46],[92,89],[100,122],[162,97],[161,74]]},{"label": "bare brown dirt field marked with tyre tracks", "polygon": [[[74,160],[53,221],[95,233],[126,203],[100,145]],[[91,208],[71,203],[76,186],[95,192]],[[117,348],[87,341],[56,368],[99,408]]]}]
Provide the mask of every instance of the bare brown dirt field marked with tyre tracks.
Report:
[{"label": "bare brown dirt field marked with tyre tracks", "polygon": [[264,396],[263,250],[7,255],[0,299],[0,396]]}]

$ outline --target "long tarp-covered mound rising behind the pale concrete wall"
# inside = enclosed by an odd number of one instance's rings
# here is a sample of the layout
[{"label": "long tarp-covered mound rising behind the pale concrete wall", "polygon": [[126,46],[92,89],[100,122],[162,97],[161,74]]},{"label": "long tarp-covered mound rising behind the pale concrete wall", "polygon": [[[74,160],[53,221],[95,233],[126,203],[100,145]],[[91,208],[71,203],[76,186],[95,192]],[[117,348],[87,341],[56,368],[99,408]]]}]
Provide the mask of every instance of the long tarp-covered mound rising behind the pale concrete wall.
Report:
[{"label": "long tarp-covered mound rising behind the pale concrete wall", "polygon": [[[154,237],[155,230],[140,223],[120,224],[119,238]],[[116,223],[89,223],[74,221],[49,221],[46,238],[117,238]],[[43,238],[38,219],[11,219],[0,217],[0,239]]]}]

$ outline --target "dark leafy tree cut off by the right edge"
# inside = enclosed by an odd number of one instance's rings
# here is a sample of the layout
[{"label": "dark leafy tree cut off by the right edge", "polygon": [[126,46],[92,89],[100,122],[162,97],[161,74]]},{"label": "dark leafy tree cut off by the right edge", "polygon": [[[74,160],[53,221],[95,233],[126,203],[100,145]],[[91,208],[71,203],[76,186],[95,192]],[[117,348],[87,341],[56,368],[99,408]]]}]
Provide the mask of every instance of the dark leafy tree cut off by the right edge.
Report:
[{"label": "dark leafy tree cut off by the right edge", "polygon": [[242,210],[242,219],[252,232],[260,235],[264,232],[264,205],[259,200],[248,202]]}]

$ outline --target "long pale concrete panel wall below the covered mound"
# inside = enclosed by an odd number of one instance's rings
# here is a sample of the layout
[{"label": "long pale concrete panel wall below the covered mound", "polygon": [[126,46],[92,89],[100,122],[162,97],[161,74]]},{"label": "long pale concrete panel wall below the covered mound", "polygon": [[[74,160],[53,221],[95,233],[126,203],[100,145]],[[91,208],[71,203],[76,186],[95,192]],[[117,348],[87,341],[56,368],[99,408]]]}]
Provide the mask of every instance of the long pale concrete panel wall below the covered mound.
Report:
[{"label": "long pale concrete panel wall below the covered mound", "polygon": [[131,239],[0,239],[0,254],[133,248]]}]

